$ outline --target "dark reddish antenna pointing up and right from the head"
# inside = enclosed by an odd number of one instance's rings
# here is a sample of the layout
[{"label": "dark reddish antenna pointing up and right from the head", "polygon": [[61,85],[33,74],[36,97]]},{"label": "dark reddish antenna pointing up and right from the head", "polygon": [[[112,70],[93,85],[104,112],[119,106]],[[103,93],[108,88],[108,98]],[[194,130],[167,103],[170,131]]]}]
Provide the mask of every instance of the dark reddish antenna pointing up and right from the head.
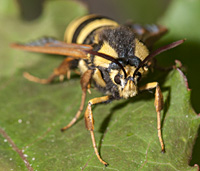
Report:
[{"label": "dark reddish antenna pointing up and right from the head", "polygon": [[139,66],[136,68],[133,77],[135,77],[136,73],[138,72],[138,70],[143,67],[145,65],[145,63],[149,60],[151,60],[153,57],[159,55],[160,53],[167,51],[169,49],[172,49],[176,46],[179,46],[180,44],[182,44],[185,41],[185,39],[183,40],[178,40],[176,42],[170,43],[168,45],[162,46],[160,48],[158,48],[157,50],[153,51],[152,53],[150,53],[140,64]]}]

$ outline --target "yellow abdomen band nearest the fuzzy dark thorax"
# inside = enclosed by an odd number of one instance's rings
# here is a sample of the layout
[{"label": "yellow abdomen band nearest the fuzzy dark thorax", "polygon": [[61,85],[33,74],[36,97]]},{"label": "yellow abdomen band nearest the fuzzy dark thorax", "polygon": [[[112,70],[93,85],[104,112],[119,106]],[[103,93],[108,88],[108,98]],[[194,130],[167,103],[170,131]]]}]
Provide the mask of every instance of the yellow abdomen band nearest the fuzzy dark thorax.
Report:
[{"label": "yellow abdomen band nearest the fuzzy dark thorax", "polygon": [[85,38],[96,28],[98,27],[102,27],[102,26],[118,26],[118,23],[113,21],[113,20],[109,20],[106,18],[103,19],[97,19],[95,21],[92,21],[91,23],[89,23],[88,25],[86,25],[84,27],[84,29],[80,32],[80,34],[78,35],[77,38],[77,43],[78,44],[82,44],[83,41],[85,40]]}]

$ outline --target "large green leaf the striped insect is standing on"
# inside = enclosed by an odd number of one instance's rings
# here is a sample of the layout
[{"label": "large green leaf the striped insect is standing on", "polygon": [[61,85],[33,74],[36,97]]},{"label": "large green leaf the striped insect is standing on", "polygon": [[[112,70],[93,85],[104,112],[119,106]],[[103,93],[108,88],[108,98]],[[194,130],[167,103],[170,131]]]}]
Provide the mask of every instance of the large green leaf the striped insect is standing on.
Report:
[{"label": "large green leaf the striped insect is standing on", "polygon": [[[79,78],[72,75],[70,80],[51,85],[29,82],[22,77],[24,71],[47,77],[63,58],[9,48],[11,42],[25,42],[44,34],[62,40],[67,22],[85,12],[85,8],[71,1],[51,1],[45,5],[43,16],[31,23],[20,21],[15,15],[1,16],[1,22],[6,23],[0,28],[2,170],[104,169],[94,154],[83,117],[66,132],[60,132],[79,108]],[[96,105],[95,137],[102,158],[109,163],[107,169],[197,170],[188,162],[200,118],[190,106],[191,92],[185,78],[180,70],[173,70],[169,74],[150,74],[146,82],[150,81],[158,81],[164,95],[162,132],[166,153],[160,152],[153,93]],[[94,89],[87,100],[99,96]],[[11,144],[15,145],[14,150]],[[17,153],[18,149],[26,160]],[[30,165],[26,167],[27,163]]]}]

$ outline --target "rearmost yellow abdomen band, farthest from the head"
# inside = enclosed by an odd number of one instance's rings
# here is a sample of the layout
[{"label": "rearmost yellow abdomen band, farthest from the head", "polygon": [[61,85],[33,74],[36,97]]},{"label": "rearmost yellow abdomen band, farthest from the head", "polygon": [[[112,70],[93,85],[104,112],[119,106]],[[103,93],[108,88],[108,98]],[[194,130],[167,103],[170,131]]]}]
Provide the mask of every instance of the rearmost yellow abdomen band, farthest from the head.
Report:
[{"label": "rearmost yellow abdomen band, farthest from the head", "polygon": [[74,35],[76,29],[78,28],[78,26],[81,23],[83,23],[84,21],[88,20],[89,18],[92,18],[95,16],[96,16],[95,14],[91,14],[91,15],[86,15],[84,17],[81,17],[78,19],[76,18],[75,20],[73,20],[65,30],[64,41],[67,43],[71,43],[73,35]]}]

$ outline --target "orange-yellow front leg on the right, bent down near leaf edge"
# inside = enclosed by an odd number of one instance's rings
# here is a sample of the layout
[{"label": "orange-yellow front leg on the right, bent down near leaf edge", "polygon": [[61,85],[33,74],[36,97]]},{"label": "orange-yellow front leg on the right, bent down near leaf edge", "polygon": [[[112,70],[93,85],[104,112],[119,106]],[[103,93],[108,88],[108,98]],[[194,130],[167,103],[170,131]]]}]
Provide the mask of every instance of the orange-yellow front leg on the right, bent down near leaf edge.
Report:
[{"label": "orange-yellow front leg on the right, bent down near leaf edge", "polygon": [[158,138],[160,141],[162,152],[165,151],[165,146],[162,139],[162,131],[161,131],[161,110],[163,109],[163,95],[160,89],[160,86],[157,82],[147,83],[146,85],[139,88],[140,91],[149,90],[155,88],[155,108],[157,112],[157,129],[158,129]]}]

